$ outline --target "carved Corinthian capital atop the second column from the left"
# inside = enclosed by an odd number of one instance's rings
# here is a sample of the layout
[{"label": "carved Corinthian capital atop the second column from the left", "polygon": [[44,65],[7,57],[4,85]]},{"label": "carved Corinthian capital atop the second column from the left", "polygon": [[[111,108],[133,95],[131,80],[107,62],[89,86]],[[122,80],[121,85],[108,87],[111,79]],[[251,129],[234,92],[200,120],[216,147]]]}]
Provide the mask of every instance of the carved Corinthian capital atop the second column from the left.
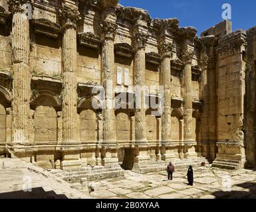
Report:
[{"label": "carved Corinthian capital atop the second column from the left", "polygon": [[76,27],[76,23],[80,19],[80,13],[76,5],[63,3],[62,10],[60,11],[60,13],[63,22],[63,27]]}]

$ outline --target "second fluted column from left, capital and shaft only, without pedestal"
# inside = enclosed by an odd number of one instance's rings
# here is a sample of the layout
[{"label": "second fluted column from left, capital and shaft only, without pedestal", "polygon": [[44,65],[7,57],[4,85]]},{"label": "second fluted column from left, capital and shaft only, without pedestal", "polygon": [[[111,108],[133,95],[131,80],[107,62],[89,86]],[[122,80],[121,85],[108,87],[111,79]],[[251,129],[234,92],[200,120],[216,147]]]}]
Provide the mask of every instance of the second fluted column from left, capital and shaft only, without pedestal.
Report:
[{"label": "second fluted column from left, capital and shaft only, without pedestal", "polygon": [[63,5],[63,142],[76,142],[76,22],[75,6]]}]

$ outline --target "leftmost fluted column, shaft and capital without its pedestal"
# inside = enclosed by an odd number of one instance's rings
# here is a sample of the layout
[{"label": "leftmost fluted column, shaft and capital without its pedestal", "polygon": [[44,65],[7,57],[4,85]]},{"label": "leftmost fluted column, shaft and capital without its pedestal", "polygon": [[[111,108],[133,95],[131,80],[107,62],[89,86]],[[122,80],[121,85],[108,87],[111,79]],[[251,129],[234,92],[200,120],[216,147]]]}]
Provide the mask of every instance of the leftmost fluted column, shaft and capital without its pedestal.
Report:
[{"label": "leftmost fluted column, shaft and capital without its pedestal", "polygon": [[28,1],[9,1],[13,13],[11,32],[13,64],[13,143],[29,142],[29,111],[31,76],[29,72],[29,19],[23,4]]}]

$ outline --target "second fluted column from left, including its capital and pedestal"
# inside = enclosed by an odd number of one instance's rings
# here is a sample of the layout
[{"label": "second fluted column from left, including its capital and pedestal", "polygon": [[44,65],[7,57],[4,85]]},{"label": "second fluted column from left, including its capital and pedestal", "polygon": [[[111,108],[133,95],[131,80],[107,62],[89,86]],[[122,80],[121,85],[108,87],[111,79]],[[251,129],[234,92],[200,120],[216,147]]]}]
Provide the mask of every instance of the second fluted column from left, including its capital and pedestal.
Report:
[{"label": "second fluted column from left, including its capital and pedestal", "polygon": [[78,8],[70,1],[64,1],[61,17],[63,23],[63,151],[62,169],[80,168],[79,148],[70,146],[76,144],[77,138],[77,92],[76,92],[76,23],[79,17]]}]

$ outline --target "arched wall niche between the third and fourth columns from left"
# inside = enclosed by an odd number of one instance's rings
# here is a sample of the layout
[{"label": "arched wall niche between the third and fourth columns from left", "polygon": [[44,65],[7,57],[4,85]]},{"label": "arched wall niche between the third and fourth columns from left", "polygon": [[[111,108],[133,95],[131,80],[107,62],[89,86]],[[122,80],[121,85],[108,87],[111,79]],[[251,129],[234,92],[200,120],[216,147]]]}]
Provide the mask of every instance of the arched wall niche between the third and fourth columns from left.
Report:
[{"label": "arched wall niche between the third and fourth columns from left", "polygon": [[116,112],[116,140],[128,143],[132,140],[130,115],[126,111]]}]

